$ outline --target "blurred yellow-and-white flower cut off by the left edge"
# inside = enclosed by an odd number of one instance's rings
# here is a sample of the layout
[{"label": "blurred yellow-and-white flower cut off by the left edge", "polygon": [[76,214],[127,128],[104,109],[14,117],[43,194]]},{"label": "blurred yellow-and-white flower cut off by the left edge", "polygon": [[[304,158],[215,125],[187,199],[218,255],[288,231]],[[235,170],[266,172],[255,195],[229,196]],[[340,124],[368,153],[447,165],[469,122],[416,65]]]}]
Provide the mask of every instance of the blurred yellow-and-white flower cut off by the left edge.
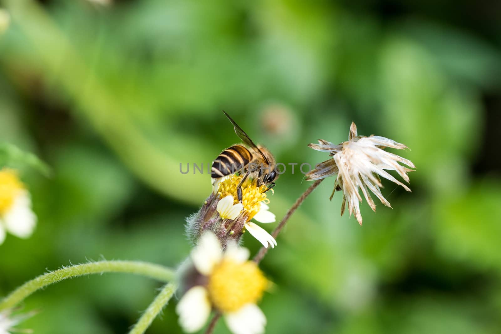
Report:
[{"label": "blurred yellow-and-white flower cut off by the left edge", "polygon": [[20,238],[32,235],[37,216],[31,208],[30,193],[15,170],[0,170],[0,244],[9,232]]}]

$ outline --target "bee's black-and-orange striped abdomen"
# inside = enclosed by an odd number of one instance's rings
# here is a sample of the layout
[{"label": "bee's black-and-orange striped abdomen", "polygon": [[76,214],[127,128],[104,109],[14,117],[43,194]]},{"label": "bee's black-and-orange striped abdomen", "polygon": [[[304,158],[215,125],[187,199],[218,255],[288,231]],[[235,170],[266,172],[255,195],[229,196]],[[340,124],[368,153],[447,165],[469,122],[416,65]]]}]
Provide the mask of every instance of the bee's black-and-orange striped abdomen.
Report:
[{"label": "bee's black-and-orange striped abdomen", "polygon": [[244,146],[234,145],[221,152],[212,163],[212,178],[221,178],[242,169],[252,160],[252,154]]}]

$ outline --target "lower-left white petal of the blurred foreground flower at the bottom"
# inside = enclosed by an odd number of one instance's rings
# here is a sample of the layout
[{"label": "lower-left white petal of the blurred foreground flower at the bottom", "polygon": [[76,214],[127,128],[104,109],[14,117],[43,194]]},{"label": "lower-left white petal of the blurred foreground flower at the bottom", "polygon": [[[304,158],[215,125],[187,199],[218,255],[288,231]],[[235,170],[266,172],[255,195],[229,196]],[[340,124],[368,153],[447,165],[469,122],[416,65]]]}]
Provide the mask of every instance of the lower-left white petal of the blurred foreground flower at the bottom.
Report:
[{"label": "lower-left white petal of the blurred foreground flower at the bottom", "polygon": [[179,324],[187,333],[203,327],[210,315],[209,294],[203,286],[194,286],[182,296],[176,306]]}]

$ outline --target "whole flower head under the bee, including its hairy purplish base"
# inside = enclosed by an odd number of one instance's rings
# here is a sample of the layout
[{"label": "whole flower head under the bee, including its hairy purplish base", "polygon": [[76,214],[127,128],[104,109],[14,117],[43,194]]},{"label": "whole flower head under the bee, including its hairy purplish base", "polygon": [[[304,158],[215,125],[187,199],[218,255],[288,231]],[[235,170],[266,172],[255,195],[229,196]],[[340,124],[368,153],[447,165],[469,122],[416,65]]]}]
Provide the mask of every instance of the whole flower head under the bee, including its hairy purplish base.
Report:
[{"label": "whole flower head under the bee, including its hairy purplish base", "polygon": [[[265,229],[250,221],[275,222],[275,214],[269,210],[266,185],[258,187],[257,181],[248,178],[241,185],[242,201],[237,199],[237,186],[242,176],[228,175],[213,185],[209,198],[201,209],[187,218],[188,235],[196,242],[204,231],[212,231],[223,246],[228,240],[238,241],[244,231],[248,231],[265,247],[272,248],[277,241]],[[273,190],[273,189],[272,189]]]}]

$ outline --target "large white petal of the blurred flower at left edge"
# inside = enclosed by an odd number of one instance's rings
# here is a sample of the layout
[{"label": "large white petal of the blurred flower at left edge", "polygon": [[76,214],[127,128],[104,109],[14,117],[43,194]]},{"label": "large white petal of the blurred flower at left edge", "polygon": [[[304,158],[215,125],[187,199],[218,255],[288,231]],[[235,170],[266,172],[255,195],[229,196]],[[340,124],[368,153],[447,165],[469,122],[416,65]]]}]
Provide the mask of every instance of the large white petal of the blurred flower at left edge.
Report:
[{"label": "large white petal of the blurred flower at left edge", "polygon": [[12,208],[4,216],[7,231],[20,238],[28,238],[33,234],[37,224],[37,216],[31,209],[30,194],[23,191],[16,197]]}]

